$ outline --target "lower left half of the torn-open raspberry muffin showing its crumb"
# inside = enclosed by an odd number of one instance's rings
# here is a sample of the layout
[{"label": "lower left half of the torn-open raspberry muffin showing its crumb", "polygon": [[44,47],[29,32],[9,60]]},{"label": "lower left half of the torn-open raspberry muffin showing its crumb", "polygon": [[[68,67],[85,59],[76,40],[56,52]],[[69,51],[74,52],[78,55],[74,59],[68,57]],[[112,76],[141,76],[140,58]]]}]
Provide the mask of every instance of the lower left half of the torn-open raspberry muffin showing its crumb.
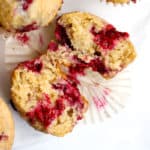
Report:
[{"label": "lower left half of the torn-open raspberry muffin showing its crumb", "polygon": [[12,102],[35,129],[55,136],[72,131],[88,102],[64,68],[73,55],[67,46],[49,44],[40,57],[18,65],[12,75]]}]

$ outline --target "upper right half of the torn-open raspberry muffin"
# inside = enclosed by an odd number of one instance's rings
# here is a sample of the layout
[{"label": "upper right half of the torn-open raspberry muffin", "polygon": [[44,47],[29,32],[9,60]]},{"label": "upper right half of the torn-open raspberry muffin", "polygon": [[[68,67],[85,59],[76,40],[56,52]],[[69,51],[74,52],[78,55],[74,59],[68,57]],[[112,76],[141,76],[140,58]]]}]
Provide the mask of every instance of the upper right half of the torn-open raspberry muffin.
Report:
[{"label": "upper right half of the torn-open raspberry muffin", "polygon": [[106,79],[117,75],[136,57],[127,32],[120,32],[89,13],[71,12],[60,16],[55,36],[58,42],[68,45],[78,54],[82,69],[90,67]]}]

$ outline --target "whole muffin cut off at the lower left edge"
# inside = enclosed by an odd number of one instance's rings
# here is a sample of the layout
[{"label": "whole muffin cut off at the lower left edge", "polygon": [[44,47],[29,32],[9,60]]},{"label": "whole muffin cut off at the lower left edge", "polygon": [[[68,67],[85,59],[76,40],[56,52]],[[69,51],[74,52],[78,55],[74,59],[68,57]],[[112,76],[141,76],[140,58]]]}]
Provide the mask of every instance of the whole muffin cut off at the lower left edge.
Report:
[{"label": "whole muffin cut off at the lower left edge", "polygon": [[11,150],[14,141],[14,121],[11,112],[0,99],[0,150]]}]

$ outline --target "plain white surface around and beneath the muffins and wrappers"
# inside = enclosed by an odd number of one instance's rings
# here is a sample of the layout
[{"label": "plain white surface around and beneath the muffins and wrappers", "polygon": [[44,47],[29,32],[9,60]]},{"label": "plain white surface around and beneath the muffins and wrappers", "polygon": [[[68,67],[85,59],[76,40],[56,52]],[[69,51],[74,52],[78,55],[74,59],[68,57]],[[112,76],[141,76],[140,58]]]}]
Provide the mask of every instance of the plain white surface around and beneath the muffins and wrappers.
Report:
[{"label": "plain white surface around and beneath the muffins and wrappers", "polygon": [[[138,57],[133,63],[129,103],[112,119],[100,124],[77,125],[64,138],[35,131],[13,111],[16,123],[13,150],[150,150],[150,0],[116,7],[98,0],[64,0],[60,13],[77,10],[101,16],[130,33]],[[0,85],[1,96],[8,100],[9,81],[3,73]],[[19,128],[25,130],[18,132]]]}]

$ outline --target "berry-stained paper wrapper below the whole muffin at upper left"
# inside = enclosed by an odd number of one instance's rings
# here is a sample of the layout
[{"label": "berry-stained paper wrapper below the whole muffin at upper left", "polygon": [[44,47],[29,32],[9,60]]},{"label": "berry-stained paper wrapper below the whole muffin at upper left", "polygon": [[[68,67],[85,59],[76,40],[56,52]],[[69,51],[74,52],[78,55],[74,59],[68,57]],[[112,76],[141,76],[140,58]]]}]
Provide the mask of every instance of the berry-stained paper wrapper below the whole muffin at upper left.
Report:
[{"label": "berry-stained paper wrapper below the whole muffin at upper left", "polygon": [[34,58],[46,50],[48,43],[53,38],[51,32],[49,27],[16,34],[0,28],[5,69],[12,70],[18,63]]}]

